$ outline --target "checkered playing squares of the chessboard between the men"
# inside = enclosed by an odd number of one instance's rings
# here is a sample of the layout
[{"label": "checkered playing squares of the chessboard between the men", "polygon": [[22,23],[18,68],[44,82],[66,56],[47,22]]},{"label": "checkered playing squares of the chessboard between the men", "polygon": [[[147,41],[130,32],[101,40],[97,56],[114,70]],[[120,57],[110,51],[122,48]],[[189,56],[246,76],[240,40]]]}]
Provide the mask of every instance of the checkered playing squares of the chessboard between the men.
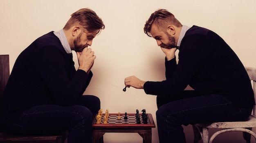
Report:
[{"label": "checkered playing squares of the chessboard between the men", "polygon": [[[137,124],[135,115],[126,115],[128,119],[124,119],[125,115],[120,115],[120,116],[121,116],[121,120],[117,120],[118,115],[109,115],[107,124]],[[139,117],[140,117],[141,124],[144,124],[142,120],[142,116],[139,115]],[[101,124],[103,124],[103,119],[104,119],[104,115],[103,117],[101,117]],[[97,121],[95,121],[94,124],[96,124],[96,122]]]}]

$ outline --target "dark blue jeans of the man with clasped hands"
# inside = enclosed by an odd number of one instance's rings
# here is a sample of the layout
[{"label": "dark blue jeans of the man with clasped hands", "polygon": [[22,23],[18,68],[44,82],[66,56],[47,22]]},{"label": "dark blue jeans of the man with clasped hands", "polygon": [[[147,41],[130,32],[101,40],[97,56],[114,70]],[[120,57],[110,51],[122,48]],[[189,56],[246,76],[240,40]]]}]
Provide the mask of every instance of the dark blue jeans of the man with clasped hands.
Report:
[{"label": "dark blue jeans of the man with clasped hands", "polygon": [[69,143],[92,142],[92,118],[100,109],[100,100],[83,95],[74,106],[40,105],[26,110],[9,126],[13,134],[52,135],[67,130]]}]

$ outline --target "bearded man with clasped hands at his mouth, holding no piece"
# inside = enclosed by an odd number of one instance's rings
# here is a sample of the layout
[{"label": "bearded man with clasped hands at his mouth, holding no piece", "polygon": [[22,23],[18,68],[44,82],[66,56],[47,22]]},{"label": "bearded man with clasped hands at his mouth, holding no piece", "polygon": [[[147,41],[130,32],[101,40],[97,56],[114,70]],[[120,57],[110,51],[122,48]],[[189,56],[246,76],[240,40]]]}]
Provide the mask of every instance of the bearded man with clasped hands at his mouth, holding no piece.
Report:
[{"label": "bearded man with clasped hands at his mouth, holding no piece", "polygon": [[[92,141],[100,100],[82,95],[92,78],[94,37],[105,28],[91,9],[73,13],[63,29],[36,39],[17,58],[2,99],[2,123],[12,134],[68,130],[70,143]],[[76,70],[72,50],[77,54]]]}]

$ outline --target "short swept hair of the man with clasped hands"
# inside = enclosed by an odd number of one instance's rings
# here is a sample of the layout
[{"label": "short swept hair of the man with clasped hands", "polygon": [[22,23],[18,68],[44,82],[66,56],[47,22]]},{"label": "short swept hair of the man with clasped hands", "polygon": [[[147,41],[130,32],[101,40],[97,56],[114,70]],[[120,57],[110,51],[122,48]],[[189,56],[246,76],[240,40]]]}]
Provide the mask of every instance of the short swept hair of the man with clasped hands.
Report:
[{"label": "short swept hair of the man with clasped hands", "polygon": [[89,32],[94,32],[95,30],[99,30],[100,32],[102,29],[105,29],[105,25],[101,18],[94,11],[88,8],[79,9],[73,13],[63,29],[68,30],[76,24],[81,25]]}]

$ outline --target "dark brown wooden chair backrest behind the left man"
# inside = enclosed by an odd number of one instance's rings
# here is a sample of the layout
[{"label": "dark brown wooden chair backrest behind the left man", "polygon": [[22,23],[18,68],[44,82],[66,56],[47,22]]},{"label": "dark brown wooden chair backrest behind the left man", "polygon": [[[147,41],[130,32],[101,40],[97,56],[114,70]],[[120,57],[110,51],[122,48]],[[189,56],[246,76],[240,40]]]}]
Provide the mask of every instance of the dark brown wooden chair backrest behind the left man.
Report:
[{"label": "dark brown wooden chair backrest behind the left man", "polygon": [[[9,55],[0,55],[0,107],[2,102],[2,94],[7,81],[10,76],[10,65],[9,65]],[[0,124],[1,132],[1,124]]]}]

